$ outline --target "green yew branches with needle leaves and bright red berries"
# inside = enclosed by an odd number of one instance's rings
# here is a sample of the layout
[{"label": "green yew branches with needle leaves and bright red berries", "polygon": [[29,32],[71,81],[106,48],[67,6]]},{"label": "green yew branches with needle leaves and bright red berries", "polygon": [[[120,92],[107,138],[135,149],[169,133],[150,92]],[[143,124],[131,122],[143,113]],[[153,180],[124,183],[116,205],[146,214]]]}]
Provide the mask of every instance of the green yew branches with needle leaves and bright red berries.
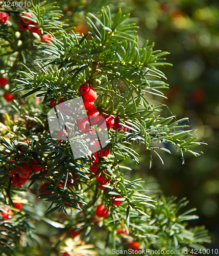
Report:
[{"label": "green yew branches with needle leaves and bright red berries", "polygon": [[[147,100],[148,94],[165,97],[168,84],[160,69],[169,65],[168,53],[153,50],[148,41],[139,48],[136,20],[108,6],[87,15],[86,35],[61,21],[56,3],[36,1],[21,16],[2,16],[1,75],[7,79],[0,88],[3,255],[39,255],[44,239],[51,244],[46,255],[111,255],[112,248],[178,249],[183,255],[186,248],[205,248],[210,239],[204,227],[186,229],[185,221],[197,216],[189,215],[194,209],[182,213],[185,199],[176,203],[154,191],[153,181],[124,176],[131,170],[124,160],[138,163],[135,142],[145,145],[149,165],[154,154],[163,163],[160,150],[171,153],[165,142],[181,152],[183,162],[185,154],[202,153],[194,131],[183,124],[186,118],[162,118],[161,106]],[[74,159],[69,141],[59,137],[71,127],[51,138],[47,112],[82,95],[88,121],[78,121],[80,130],[89,132],[90,123],[103,118],[109,143]],[[37,228],[41,222],[56,231],[43,238]]]}]

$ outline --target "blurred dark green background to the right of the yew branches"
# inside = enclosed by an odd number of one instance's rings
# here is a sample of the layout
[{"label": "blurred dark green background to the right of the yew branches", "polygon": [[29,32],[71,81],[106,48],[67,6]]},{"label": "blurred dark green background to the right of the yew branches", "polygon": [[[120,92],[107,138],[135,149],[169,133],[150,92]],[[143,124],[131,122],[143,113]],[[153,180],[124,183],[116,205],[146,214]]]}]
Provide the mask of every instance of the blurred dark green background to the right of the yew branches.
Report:
[{"label": "blurred dark green background to the right of the yew branches", "polygon": [[[143,146],[134,145],[140,154],[140,164],[129,164],[133,175],[153,175],[165,196],[187,197],[187,209],[197,208],[198,220],[190,226],[205,225],[212,237],[207,248],[219,249],[219,2],[218,0],[128,0],[123,1],[58,1],[65,18],[75,31],[87,32],[84,14],[100,11],[103,5],[121,7],[124,13],[139,20],[139,46],[149,39],[154,50],[168,51],[164,67],[170,84],[168,99],[151,97],[151,104],[163,104],[163,117],[189,117],[186,123],[198,129],[197,137],[208,145],[200,146],[204,155],[186,157],[179,153],[160,152],[164,165],[153,155],[152,168]],[[167,107],[167,106],[168,107]],[[171,145],[166,144],[166,147]]]}]

